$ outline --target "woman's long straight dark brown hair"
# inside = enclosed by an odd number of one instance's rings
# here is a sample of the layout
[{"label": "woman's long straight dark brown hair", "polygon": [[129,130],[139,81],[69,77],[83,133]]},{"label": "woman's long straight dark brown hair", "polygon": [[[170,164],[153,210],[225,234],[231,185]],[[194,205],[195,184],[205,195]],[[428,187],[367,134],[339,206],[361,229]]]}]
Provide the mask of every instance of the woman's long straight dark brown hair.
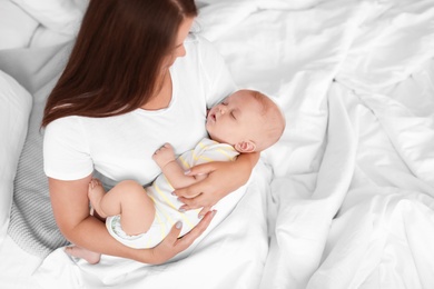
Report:
[{"label": "woman's long straight dark brown hair", "polygon": [[42,127],[68,117],[110,117],[144,106],[157,89],[194,0],[90,0]]}]

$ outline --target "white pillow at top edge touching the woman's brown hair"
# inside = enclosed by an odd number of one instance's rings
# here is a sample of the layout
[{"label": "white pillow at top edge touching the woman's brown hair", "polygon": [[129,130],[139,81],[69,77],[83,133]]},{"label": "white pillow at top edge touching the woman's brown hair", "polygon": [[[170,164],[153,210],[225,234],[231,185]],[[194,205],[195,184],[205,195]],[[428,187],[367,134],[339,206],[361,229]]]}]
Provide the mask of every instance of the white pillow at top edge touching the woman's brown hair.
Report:
[{"label": "white pillow at top edge touching the woman's brown hair", "polygon": [[11,0],[42,26],[73,36],[82,18],[83,0]]}]

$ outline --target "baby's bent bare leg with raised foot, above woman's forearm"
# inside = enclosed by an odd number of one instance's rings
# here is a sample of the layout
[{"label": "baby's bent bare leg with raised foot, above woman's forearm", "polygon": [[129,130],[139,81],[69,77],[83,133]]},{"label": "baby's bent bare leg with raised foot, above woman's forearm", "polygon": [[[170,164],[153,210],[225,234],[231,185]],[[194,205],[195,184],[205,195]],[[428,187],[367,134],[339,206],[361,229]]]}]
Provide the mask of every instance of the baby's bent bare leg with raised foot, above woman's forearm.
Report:
[{"label": "baby's bent bare leg with raised foot, above woman's forearm", "polygon": [[89,183],[89,199],[101,217],[120,215],[120,225],[127,235],[147,232],[154,222],[154,202],[136,181],[121,181],[105,193],[101,183],[93,179]]}]

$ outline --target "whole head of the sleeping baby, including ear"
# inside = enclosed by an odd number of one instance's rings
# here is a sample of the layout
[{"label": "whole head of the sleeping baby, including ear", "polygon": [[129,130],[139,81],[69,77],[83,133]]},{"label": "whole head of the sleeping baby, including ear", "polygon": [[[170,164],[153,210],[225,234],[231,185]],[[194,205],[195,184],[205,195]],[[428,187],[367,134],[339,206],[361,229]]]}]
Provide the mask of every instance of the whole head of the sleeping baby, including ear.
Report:
[{"label": "whole head of the sleeping baby, including ear", "polygon": [[285,118],[277,104],[255,90],[238,90],[208,112],[207,131],[239,152],[263,151],[277,142]]}]

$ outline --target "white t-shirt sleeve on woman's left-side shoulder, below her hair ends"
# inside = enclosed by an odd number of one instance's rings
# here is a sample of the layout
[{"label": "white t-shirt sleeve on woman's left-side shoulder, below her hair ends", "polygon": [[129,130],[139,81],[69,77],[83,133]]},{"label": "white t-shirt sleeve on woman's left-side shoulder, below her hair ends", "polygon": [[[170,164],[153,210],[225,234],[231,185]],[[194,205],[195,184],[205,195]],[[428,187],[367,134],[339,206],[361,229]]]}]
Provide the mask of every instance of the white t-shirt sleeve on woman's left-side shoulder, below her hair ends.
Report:
[{"label": "white t-shirt sleeve on woman's left-side shoulder, below her hair ends", "polygon": [[78,117],[52,121],[43,136],[43,170],[59,180],[82,179],[93,171],[89,146]]}]

